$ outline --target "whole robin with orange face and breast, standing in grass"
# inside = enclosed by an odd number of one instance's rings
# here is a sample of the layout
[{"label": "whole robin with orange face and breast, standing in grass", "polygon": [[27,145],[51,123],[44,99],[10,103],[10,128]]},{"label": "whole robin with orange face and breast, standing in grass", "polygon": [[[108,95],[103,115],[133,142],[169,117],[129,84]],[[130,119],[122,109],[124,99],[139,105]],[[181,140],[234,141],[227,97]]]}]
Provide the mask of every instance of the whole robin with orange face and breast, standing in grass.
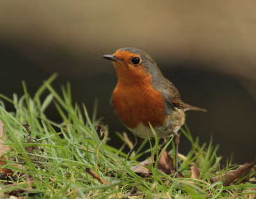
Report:
[{"label": "whole robin with orange face and breast, standing in grass", "polygon": [[176,177],[178,174],[178,131],[185,122],[185,111],[206,111],[190,106],[180,100],[180,93],[166,79],[154,60],[140,49],[126,47],[115,54],[102,56],[113,61],[118,83],[110,103],[125,127],[136,139],[128,158],[142,139],[154,137],[149,123],[156,131],[157,138],[174,136],[176,152]]}]

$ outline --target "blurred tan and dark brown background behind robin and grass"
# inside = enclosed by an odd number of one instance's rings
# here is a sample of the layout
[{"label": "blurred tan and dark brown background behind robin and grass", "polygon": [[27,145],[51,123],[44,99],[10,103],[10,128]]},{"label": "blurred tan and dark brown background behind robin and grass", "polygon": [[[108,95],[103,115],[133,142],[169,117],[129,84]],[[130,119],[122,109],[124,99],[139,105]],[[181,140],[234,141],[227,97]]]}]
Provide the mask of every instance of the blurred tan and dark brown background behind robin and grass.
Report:
[{"label": "blurred tan and dark brown background behind robin and grass", "polygon": [[[108,142],[128,132],[109,104],[117,83],[113,63],[102,59],[121,47],[152,56],[190,111],[186,123],[200,143],[220,144],[223,164],[256,156],[256,1],[1,1],[0,93],[33,95],[54,72],[53,86],[70,81],[73,101],[84,102],[109,126]],[[6,109],[13,111],[6,102]],[[61,122],[54,106],[51,120]],[[129,133],[134,141],[134,136]],[[180,153],[191,145],[181,136]],[[128,152],[129,148],[125,148]]]}]

